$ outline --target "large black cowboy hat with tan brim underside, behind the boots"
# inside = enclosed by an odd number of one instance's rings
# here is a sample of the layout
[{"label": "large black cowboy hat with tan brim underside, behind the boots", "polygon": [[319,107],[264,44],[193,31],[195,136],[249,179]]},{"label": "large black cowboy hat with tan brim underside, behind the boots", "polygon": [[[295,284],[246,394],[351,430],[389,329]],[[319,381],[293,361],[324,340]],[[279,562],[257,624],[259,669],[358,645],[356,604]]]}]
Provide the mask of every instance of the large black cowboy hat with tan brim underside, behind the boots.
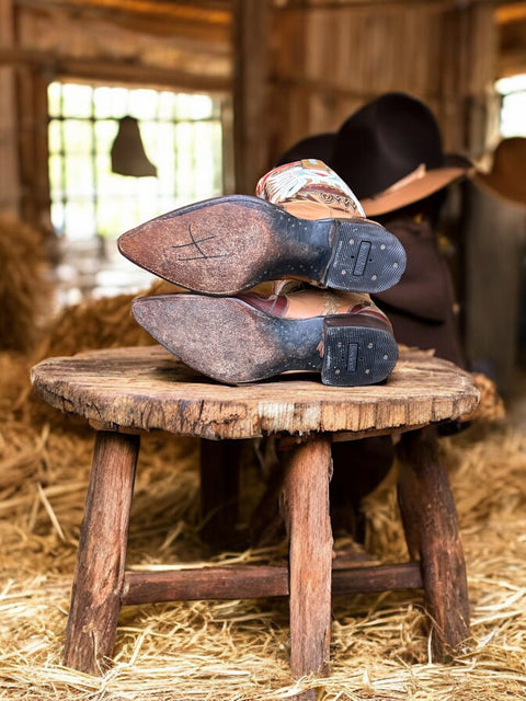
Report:
[{"label": "large black cowboy hat with tan brim underside, behind the boots", "polygon": [[471,168],[468,159],[444,153],[431,110],[400,92],[367,103],[335,134],[302,139],[279,163],[299,158],[324,160],[355,193],[367,216],[428,197]]}]

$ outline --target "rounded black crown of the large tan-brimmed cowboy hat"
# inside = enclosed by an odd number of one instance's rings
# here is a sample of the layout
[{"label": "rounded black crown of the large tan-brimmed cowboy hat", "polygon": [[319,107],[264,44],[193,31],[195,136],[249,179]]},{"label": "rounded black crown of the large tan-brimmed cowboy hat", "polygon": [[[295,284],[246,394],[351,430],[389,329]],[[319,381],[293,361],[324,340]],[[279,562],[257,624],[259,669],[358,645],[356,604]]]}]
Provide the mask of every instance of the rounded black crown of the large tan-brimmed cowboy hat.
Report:
[{"label": "rounded black crown of the large tan-brimmed cowboy hat", "polygon": [[387,189],[422,163],[444,166],[441,131],[431,110],[405,93],[366,104],[336,134],[333,168],[358,198]]}]

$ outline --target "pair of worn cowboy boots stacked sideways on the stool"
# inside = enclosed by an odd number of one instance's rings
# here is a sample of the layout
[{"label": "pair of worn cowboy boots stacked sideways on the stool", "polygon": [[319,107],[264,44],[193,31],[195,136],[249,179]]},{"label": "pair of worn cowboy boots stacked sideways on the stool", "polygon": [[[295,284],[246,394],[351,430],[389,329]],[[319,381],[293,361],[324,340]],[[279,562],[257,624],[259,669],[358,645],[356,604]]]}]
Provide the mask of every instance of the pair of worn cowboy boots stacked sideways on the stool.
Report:
[{"label": "pair of worn cowboy boots stacked sideways on the stool", "polygon": [[123,255],[195,292],[135,299],[137,322],[228,384],[289,371],[342,387],[385,380],[398,346],[369,292],[400,279],[398,239],[321,161],[274,169],[256,195],[196,203],[119,237]]}]

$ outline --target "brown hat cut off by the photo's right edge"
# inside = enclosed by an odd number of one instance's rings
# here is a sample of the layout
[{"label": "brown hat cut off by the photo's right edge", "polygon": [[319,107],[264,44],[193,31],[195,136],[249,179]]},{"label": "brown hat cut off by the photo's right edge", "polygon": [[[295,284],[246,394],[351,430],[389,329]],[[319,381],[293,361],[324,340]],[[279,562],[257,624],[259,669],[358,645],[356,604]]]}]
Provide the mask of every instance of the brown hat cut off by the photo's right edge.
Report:
[{"label": "brown hat cut off by the photo's right edge", "polygon": [[493,152],[489,173],[477,172],[473,180],[494,194],[519,205],[526,205],[526,138],[503,139]]}]

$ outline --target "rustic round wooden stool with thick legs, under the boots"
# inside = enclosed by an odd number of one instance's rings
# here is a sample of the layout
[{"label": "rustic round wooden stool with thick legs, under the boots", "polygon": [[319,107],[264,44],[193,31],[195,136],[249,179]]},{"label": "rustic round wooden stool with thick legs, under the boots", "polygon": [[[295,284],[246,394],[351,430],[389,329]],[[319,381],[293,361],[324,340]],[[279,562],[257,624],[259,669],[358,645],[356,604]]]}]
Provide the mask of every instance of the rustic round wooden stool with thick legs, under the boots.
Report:
[{"label": "rustic round wooden stool with thick legs, under the boots", "polygon": [[[470,376],[454,365],[407,352],[382,386],[324,387],[296,375],[226,387],[150,346],[49,358],[33,368],[32,381],[46,402],[85,417],[96,429],[67,666],[101,674],[113,655],[121,607],[170,600],[288,596],[296,677],[328,673],[331,593],[423,588],[436,658],[469,637],[464,553],[433,426],[477,405]],[[283,487],[288,567],[126,570],[139,433],[153,429],[216,440],[288,436]],[[399,496],[411,561],[333,570],[331,440],[381,434],[401,435]]]}]

